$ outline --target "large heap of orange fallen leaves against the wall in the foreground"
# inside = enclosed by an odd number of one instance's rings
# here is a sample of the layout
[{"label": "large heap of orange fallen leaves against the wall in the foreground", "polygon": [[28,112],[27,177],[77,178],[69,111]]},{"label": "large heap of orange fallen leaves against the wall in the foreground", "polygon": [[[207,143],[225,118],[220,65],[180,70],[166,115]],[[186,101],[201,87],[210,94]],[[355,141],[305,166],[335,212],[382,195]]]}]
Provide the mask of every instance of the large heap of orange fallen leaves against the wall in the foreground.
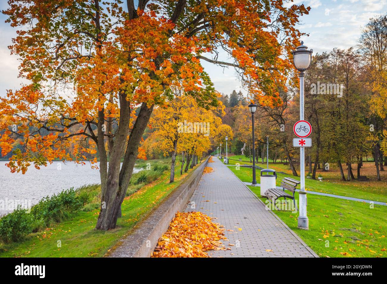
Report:
[{"label": "large heap of orange fallen leaves against the wall in the foreground", "polygon": [[206,251],[225,249],[220,241],[226,240],[223,231],[201,212],[178,212],[152,257],[209,257]]}]

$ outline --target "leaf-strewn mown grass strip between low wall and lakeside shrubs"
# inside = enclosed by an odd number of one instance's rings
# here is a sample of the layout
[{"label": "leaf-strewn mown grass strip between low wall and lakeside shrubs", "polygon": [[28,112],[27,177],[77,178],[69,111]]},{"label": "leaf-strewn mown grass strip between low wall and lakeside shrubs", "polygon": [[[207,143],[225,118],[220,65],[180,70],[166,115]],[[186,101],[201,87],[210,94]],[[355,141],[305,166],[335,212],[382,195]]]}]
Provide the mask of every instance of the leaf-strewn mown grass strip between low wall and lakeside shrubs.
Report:
[{"label": "leaf-strewn mown grass strip between low wall and lakeside shrubs", "polygon": [[192,171],[190,169],[188,173],[180,176],[181,163],[177,161],[176,163],[175,182],[169,184],[170,172],[167,170],[158,180],[125,198],[122,204],[122,218],[118,219],[116,229],[95,231],[99,209],[79,211],[71,220],[31,234],[24,241],[0,244],[0,257],[103,256]]}]

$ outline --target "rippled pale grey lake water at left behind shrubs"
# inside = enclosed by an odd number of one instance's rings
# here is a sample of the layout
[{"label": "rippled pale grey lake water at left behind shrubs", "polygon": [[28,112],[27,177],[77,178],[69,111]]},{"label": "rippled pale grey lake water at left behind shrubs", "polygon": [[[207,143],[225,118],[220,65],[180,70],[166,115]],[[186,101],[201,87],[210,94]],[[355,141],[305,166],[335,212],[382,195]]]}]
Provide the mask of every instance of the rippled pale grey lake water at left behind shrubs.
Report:
[{"label": "rippled pale grey lake water at left behind shrubs", "polygon": [[[63,189],[101,183],[99,170],[91,168],[89,162],[78,165],[74,162],[55,161],[47,167],[40,167],[40,170],[31,166],[24,175],[21,172],[11,173],[6,163],[0,161],[0,216],[12,212],[17,204],[27,208]],[[99,162],[94,165],[99,166]],[[133,172],[140,170],[134,169]]]}]

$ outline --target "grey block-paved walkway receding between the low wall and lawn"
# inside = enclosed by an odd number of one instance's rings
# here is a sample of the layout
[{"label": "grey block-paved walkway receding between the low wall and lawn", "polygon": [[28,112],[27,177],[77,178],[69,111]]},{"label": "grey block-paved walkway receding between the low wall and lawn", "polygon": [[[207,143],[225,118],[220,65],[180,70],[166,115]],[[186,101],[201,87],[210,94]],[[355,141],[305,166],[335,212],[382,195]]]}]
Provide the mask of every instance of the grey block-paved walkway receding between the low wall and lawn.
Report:
[{"label": "grey block-paved walkway receding between the low wall and lawn", "polygon": [[211,257],[317,257],[226,165],[213,160],[208,166],[214,172],[203,175],[185,209],[224,226],[228,241],[223,243],[231,250],[210,251]]}]

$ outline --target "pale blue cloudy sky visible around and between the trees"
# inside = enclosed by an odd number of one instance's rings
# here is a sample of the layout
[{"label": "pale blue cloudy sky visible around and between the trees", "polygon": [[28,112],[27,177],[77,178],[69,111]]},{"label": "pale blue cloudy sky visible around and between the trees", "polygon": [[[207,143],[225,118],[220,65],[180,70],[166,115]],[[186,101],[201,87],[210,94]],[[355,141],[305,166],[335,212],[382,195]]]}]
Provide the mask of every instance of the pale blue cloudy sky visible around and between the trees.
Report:
[{"label": "pale blue cloudy sky visible around and between the trees", "polygon": [[[346,49],[356,46],[369,19],[387,12],[387,0],[294,0],[293,3],[303,3],[311,7],[309,14],[300,18],[297,28],[309,35],[301,37],[301,40],[309,49],[313,49],[313,53],[329,52],[335,47]],[[0,0],[0,10],[7,9],[7,6],[5,0]],[[11,56],[8,49],[12,44],[12,37],[16,36],[16,29],[5,23],[5,19],[1,14],[0,96],[3,96],[7,89],[19,88],[22,83],[21,78],[18,78],[17,56]],[[235,89],[247,94],[240,87],[232,67],[222,68],[206,61],[202,61],[202,65],[219,92],[230,94]]]}]

